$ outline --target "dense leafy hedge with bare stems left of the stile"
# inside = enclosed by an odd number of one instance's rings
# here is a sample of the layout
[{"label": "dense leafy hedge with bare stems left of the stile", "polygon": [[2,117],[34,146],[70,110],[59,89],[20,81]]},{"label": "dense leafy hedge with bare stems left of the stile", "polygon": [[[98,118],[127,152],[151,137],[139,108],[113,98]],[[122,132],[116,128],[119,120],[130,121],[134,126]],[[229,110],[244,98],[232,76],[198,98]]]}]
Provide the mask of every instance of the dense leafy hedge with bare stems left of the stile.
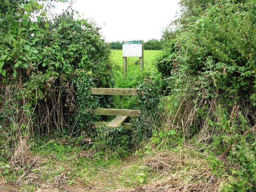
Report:
[{"label": "dense leafy hedge with bare stems left of the stile", "polygon": [[[88,89],[114,84],[110,49],[100,29],[75,19],[72,9],[51,16],[47,1],[0,6],[1,147],[12,150],[19,137],[91,130],[88,109],[98,101],[108,106],[109,100],[90,96]],[[2,152],[9,158],[8,150]]]}]

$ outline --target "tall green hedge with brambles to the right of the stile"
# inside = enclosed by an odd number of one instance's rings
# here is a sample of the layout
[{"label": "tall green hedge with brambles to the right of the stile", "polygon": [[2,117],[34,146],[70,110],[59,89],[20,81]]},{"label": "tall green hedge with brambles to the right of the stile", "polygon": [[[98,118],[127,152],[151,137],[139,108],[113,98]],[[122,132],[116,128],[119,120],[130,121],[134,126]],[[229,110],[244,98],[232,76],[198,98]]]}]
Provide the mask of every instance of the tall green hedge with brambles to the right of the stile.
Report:
[{"label": "tall green hedge with brambles to the right of the stile", "polygon": [[180,4],[182,14],[164,32],[156,64],[168,93],[164,134],[175,126],[183,140],[236,164],[222,170],[224,191],[254,191],[255,0]]}]

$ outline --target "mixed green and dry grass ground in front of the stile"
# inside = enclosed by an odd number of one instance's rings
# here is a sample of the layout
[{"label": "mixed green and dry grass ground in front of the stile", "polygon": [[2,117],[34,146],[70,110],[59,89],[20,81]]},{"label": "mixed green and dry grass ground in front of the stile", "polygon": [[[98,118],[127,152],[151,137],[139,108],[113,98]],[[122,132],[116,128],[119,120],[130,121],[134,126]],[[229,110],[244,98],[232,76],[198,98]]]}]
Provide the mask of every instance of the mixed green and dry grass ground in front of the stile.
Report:
[{"label": "mixed green and dry grass ground in front of the stile", "polygon": [[[26,154],[33,159],[30,164],[10,162],[16,184],[1,181],[0,191],[202,191],[213,176],[209,162],[192,150],[160,151],[151,142],[126,158],[113,152],[83,150],[71,138],[40,143],[34,151]],[[216,190],[220,179],[215,178],[206,191]]]}]

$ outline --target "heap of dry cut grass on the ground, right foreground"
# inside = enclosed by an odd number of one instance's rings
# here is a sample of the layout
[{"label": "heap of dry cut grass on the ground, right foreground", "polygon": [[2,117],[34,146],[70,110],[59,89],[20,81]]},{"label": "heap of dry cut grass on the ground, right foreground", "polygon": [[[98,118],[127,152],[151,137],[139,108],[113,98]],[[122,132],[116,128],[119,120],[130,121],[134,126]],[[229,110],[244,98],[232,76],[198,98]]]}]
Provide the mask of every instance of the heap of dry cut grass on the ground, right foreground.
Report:
[{"label": "heap of dry cut grass on the ground, right foreground", "polygon": [[117,192],[217,192],[223,180],[212,174],[206,160],[193,157],[186,150],[162,151],[144,160],[144,164],[162,179]]}]

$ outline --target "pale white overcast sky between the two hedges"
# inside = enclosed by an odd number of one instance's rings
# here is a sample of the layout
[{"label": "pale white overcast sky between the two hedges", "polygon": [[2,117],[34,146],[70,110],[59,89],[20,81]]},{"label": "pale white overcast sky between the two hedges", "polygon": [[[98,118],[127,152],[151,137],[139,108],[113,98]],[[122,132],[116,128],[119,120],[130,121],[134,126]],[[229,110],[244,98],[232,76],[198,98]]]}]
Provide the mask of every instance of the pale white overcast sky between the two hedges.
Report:
[{"label": "pale white overcast sky between the two hedges", "polygon": [[[164,28],[175,19],[179,0],[77,0],[72,8],[83,18],[94,20],[102,28],[106,41],[144,40],[162,36]],[[54,12],[69,4],[54,3]]]}]

